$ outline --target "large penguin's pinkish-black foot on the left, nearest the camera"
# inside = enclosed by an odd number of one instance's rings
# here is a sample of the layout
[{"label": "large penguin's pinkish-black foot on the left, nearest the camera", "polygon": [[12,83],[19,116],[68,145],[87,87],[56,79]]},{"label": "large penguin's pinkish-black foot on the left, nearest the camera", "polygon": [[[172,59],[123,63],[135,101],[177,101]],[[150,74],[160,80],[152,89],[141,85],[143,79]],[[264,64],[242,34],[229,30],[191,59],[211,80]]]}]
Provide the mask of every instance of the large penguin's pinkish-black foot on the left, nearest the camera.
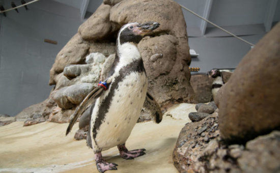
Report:
[{"label": "large penguin's pinkish-black foot on the left, nearest the camera", "polygon": [[101,152],[99,153],[96,153],[95,155],[95,162],[96,162],[96,167],[97,167],[97,170],[99,172],[105,172],[106,170],[117,170],[117,167],[118,164],[116,163],[108,163],[106,162],[103,158],[102,158],[102,155],[101,155]]}]

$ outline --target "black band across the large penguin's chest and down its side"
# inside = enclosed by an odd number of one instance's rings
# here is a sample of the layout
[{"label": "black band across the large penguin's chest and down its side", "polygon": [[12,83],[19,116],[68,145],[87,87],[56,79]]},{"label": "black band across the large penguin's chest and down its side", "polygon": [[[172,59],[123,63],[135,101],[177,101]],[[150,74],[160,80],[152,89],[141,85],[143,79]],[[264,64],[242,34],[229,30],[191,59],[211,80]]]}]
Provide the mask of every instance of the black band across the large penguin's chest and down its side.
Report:
[{"label": "black band across the large penguin's chest and down its side", "polygon": [[92,132],[93,132],[94,139],[96,138],[97,131],[100,128],[101,124],[104,123],[105,114],[108,112],[109,107],[111,105],[111,101],[112,101],[113,97],[115,96],[115,92],[119,88],[119,82],[121,82],[125,78],[125,76],[131,74],[132,72],[145,73],[145,75],[146,75],[146,71],[145,71],[142,59],[135,60],[135,61],[131,62],[130,64],[122,67],[119,71],[119,75],[110,84],[109,93],[105,97],[105,99],[101,102],[97,115],[96,115],[94,125],[93,125]]}]

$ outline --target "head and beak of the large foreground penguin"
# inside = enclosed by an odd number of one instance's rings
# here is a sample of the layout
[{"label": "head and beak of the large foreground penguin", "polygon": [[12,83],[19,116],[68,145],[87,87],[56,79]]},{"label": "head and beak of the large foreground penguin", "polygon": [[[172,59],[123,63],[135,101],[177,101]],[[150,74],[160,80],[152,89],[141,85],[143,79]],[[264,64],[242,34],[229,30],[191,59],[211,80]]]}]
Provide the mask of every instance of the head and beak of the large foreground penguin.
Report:
[{"label": "head and beak of the large foreground penguin", "polygon": [[158,22],[127,23],[119,31],[118,43],[131,42],[137,44],[146,34],[155,30],[158,26]]}]

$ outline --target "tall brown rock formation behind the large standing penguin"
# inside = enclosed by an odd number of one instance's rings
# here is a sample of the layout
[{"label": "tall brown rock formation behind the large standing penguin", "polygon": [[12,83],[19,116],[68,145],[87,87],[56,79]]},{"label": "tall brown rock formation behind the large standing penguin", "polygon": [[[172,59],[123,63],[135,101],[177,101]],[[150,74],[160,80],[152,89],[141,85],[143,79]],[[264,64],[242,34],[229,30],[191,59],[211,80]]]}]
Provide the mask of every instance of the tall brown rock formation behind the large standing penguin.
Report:
[{"label": "tall brown rock formation behind the large standing penguin", "polygon": [[[181,7],[171,0],[104,0],[58,53],[49,78],[49,84],[55,86],[43,102],[51,103],[52,112],[42,112],[44,118],[68,122],[75,107],[100,80],[104,61],[116,53],[120,27],[129,22],[147,21],[160,23],[154,33],[138,44],[147,71],[149,92],[161,106],[194,102],[188,70],[191,58]],[[20,114],[31,118],[30,113]]]}]

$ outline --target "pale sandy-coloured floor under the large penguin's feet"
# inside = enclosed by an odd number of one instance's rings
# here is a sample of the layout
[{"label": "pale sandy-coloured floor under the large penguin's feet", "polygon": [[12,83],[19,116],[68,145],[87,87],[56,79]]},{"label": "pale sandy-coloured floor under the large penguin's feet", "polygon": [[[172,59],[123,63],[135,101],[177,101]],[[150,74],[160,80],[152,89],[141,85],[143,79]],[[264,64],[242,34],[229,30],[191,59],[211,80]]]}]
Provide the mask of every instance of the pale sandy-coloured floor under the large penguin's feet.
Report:
[{"label": "pale sandy-coloured floor under the large penguin's feet", "polygon": [[[111,148],[102,155],[119,166],[118,170],[106,172],[178,172],[172,152],[185,123],[186,120],[169,116],[163,117],[160,124],[137,123],[126,146],[129,150],[145,148],[146,155],[125,160],[117,147]],[[0,172],[98,172],[86,140],[73,139],[77,123],[68,136],[68,124],[22,125],[23,122],[15,122],[0,127]]]}]

